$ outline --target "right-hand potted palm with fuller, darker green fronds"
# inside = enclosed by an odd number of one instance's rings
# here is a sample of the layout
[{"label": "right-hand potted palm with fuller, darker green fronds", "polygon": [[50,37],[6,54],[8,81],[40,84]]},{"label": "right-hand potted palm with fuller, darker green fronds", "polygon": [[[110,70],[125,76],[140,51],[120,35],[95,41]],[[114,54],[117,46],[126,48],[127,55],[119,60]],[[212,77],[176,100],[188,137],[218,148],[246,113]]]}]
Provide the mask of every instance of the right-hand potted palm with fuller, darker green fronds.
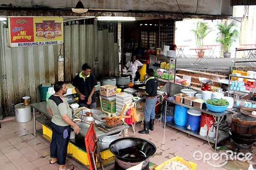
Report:
[{"label": "right-hand potted palm with fuller, darker green fronds", "polygon": [[221,36],[217,37],[216,41],[221,42],[222,48],[224,48],[224,58],[230,58],[230,47],[233,44],[233,42],[236,42],[236,40],[239,38],[239,31],[236,29],[236,23],[219,23],[217,24],[217,26],[219,30],[218,34],[221,34]]}]

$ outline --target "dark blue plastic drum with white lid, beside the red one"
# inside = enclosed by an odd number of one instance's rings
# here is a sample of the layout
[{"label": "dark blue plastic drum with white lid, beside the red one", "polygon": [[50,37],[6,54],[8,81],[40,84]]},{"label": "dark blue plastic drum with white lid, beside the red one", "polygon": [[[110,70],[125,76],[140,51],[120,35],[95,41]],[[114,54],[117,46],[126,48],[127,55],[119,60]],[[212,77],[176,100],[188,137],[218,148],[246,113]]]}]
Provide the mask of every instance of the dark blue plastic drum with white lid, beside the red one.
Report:
[{"label": "dark blue plastic drum with white lid, beside the red one", "polygon": [[186,117],[186,128],[191,131],[198,131],[201,119],[201,111],[189,109]]}]

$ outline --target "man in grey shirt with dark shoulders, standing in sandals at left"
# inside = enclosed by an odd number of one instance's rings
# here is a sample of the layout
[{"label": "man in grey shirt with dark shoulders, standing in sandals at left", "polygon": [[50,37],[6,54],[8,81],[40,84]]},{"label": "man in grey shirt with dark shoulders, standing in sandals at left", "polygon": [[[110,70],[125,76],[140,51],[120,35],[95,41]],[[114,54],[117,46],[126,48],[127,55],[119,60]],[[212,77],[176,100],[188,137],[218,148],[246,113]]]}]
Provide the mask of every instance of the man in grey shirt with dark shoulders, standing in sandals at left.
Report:
[{"label": "man in grey shirt with dark shoulders, standing in sandals at left", "polygon": [[71,120],[72,112],[64,99],[63,95],[67,93],[67,86],[64,82],[55,82],[55,94],[49,97],[47,102],[47,111],[52,115],[52,141],[50,144],[49,163],[59,164],[58,170],[73,170],[74,167],[66,165],[67,146],[70,139],[70,126],[73,127],[76,134],[79,133],[79,126]]}]

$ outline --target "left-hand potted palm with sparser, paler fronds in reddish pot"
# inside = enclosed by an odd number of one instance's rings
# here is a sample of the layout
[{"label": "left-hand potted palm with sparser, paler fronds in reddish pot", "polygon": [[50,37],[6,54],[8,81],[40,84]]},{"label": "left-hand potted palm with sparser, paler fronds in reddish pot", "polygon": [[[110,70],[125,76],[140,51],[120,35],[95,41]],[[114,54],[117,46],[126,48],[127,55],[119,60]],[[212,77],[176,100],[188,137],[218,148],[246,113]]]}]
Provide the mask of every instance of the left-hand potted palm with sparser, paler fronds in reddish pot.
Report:
[{"label": "left-hand potted palm with sparser, paler fronds in reddish pot", "polygon": [[[207,23],[198,22],[196,25],[196,29],[192,29],[195,33],[195,43],[197,48],[203,48],[205,37],[212,31],[212,28],[209,27]],[[198,51],[198,57],[203,57],[204,51]]]}]

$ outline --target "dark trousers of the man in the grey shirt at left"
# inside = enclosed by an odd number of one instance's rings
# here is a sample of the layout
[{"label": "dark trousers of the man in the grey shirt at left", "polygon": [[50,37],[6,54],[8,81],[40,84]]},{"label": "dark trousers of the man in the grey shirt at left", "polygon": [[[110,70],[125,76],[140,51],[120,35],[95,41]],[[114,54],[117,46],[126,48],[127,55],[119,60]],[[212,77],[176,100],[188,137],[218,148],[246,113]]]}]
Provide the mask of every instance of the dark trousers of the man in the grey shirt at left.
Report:
[{"label": "dark trousers of the man in the grey shirt at left", "polygon": [[[57,163],[64,165],[66,163],[67,145],[70,139],[70,125],[58,126],[51,123],[52,127],[52,142],[50,144],[50,157],[57,158]],[[68,137],[64,139],[63,132],[67,129]]]}]

